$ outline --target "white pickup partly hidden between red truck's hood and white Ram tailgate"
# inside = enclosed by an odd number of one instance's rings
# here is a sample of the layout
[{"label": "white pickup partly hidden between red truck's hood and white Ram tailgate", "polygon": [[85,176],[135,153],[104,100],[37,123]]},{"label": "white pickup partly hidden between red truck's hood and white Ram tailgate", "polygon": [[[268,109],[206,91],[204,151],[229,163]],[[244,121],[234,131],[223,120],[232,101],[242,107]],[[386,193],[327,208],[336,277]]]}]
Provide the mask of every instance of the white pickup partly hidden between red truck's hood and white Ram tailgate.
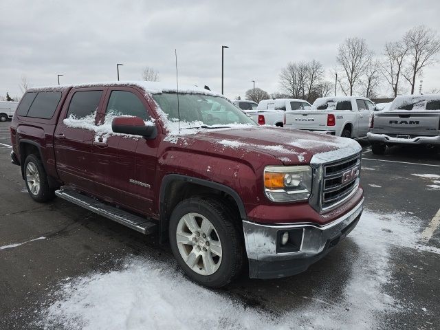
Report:
[{"label": "white pickup partly hidden between red truck's hood and white Ram tailgate", "polygon": [[260,125],[274,125],[283,127],[285,113],[311,109],[311,104],[296,98],[276,98],[275,100],[262,100],[256,111],[246,111],[246,114]]}]

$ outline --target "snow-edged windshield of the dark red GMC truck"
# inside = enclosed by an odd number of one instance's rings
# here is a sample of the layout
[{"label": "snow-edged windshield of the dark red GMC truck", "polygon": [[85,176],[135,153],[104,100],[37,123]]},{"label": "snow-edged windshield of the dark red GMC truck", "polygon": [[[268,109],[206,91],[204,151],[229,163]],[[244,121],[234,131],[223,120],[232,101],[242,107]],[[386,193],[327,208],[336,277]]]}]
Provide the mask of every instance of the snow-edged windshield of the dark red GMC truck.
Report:
[{"label": "snow-edged windshield of the dark red GMC truck", "polygon": [[177,111],[176,93],[153,94],[153,99],[166,113],[168,120],[180,119],[181,122],[186,122],[191,127],[232,124],[257,126],[248,115],[220,96],[179,93],[179,111]]}]

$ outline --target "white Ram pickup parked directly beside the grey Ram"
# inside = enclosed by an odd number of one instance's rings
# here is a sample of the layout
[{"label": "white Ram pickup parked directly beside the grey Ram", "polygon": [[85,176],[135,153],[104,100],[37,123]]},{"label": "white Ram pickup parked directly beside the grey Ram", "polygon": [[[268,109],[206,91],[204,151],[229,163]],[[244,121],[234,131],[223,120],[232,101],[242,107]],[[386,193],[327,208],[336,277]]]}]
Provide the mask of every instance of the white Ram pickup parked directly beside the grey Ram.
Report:
[{"label": "white Ram pickup parked directly beside the grey Ram", "polygon": [[285,127],[342,137],[363,137],[375,104],[368,98],[318,98],[308,111],[286,113]]}]

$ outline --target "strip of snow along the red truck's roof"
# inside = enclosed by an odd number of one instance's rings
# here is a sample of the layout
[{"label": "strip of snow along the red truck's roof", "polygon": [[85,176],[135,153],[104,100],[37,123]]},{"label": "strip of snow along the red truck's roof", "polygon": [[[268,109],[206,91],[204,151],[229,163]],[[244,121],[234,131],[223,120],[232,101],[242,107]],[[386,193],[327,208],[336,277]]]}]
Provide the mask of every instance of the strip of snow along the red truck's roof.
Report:
[{"label": "strip of snow along the red truck's roof", "polygon": [[[52,85],[52,86],[42,86],[33,87],[29,91],[62,91],[67,88],[83,88],[83,87],[109,87],[109,86],[121,86],[121,87],[140,87],[144,89],[149,94],[161,94],[161,93],[173,93],[177,91],[177,86],[173,83],[162,83],[153,81],[143,81],[143,80],[126,80],[126,81],[104,81],[97,83],[80,83],[72,85]],[[225,98],[223,95],[215,93],[214,91],[208,91],[202,87],[192,86],[192,85],[179,85],[179,93],[182,94],[205,94],[210,96],[220,96]]]}]

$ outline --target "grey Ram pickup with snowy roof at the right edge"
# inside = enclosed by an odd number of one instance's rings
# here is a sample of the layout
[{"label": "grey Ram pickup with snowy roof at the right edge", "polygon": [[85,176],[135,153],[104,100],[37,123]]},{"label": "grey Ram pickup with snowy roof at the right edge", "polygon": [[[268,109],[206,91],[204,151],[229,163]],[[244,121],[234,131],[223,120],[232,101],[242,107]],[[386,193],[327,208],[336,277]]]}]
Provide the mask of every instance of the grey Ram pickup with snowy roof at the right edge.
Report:
[{"label": "grey Ram pickup with snowy roof at the right edge", "polygon": [[374,113],[367,137],[378,155],[386,146],[440,146],[440,94],[397,96],[388,110]]}]

